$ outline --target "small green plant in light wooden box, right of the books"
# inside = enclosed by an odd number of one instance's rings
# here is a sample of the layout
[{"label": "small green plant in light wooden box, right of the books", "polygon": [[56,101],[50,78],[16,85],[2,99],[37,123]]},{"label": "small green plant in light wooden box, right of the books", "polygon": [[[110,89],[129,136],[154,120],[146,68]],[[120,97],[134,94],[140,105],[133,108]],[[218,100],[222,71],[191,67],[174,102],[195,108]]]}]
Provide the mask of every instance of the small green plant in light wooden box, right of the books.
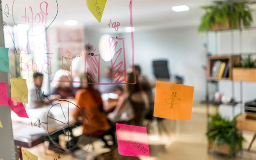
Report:
[{"label": "small green plant in light wooden box, right of the books", "polygon": [[233,80],[256,81],[256,59],[249,54],[240,60],[241,67],[234,67],[232,70]]}]

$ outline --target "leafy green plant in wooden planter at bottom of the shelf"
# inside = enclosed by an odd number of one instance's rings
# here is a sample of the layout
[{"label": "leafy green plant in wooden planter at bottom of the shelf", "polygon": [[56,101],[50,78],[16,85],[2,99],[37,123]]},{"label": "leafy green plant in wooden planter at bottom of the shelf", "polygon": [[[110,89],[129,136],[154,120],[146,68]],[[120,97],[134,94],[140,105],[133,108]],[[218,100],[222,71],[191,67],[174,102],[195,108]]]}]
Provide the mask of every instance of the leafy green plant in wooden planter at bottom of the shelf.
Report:
[{"label": "leafy green plant in wooden planter at bottom of the shelf", "polygon": [[211,116],[207,127],[208,148],[229,156],[242,150],[243,136],[236,129],[236,117],[229,121],[219,113]]}]

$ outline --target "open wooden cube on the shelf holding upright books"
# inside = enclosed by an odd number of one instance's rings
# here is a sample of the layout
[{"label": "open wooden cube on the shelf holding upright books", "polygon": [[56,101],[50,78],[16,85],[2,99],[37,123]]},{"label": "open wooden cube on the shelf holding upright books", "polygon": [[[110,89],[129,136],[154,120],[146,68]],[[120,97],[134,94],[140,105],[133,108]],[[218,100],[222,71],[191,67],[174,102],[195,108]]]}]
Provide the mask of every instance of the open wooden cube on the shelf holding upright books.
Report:
[{"label": "open wooden cube on the shelf holding upright books", "polygon": [[[221,71],[221,68],[220,71],[218,71],[218,74],[215,76],[213,76],[212,72],[213,72],[213,68],[214,68],[214,64],[216,61],[220,61],[220,62],[225,62],[225,65],[224,65],[224,70]],[[207,70],[207,73],[208,73],[208,79],[209,80],[232,80],[232,69],[233,69],[233,66],[237,66],[238,63],[240,63],[240,56],[239,55],[215,55],[215,56],[209,56],[208,57],[208,70]],[[226,67],[228,65],[228,71],[227,71],[227,75],[224,77],[224,73],[225,73],[225,70],[226,70]],[[218,68],[216,68],[218,70]],[[216,71],[217,71],[216,70]]]}]

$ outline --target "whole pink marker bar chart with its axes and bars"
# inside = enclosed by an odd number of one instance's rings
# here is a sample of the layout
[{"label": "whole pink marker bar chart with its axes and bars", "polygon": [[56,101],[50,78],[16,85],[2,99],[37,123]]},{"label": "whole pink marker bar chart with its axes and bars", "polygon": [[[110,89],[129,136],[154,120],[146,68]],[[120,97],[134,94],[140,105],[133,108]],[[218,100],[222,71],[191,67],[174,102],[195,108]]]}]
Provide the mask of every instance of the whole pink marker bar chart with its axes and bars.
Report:
[{"label": "whole pink marker bar chart with its axes and bars", "polygon": [[[130,0],[129,3],[129,9],[130,9],[130,27],[131,27],[131,58],[132,58],[132,66],[135,66],[134,63],[134,36],[133,36],[133,20],[132,20],[132,0]],[[119,22],[110,23],[108,24],[109,28],[114,28],[116,31],[118,31],[118,27],[120,26]],[[86,73],[89,74],[89,83],[90,84],[135,84],[136,83],[136,76],[135,76],[135,70],[133,69],[134,74],[134,82],[127,83],[127,77],[126,77],[126,53],[125,53],[125,38],[117,38],[117,37],[109,37],[109,45],[110,45],[110,51],[111,51],[111,68],[112,68],[112,79],[109,83],[101,83],[100,82],[100,54],[95,53],[96,47],[93,49],[93,45],[89,48],[89,43],[87,45],[87,50],[89,50],[89,53],[85,53],[79,56],[74,56],[72,58],[79,58],[84,56],[85,66],[84,66],[84,75],[86,76]],[[91,54],[91,52],[94,52]],[[130,56],[130,55],[129,55]],[[68,69],[68,64],[72,65],[72,60],[67,60],[67,65],[63,65],[62,69],[65,70],[71,70],[71,73],[69,74],[69,78],[66,80],[61,80],[61,82],[70,82],[70,83],[86,83],[86,82],[80,82],[80,81],[73,81],[72,78],[72,69]],[[70,66],[71,66],[70,65]],[[72,66],[71,66],[72,67]],[[86,78],[86,77],[85,77]],[[59,80],[51,80],[52,83]]]}]

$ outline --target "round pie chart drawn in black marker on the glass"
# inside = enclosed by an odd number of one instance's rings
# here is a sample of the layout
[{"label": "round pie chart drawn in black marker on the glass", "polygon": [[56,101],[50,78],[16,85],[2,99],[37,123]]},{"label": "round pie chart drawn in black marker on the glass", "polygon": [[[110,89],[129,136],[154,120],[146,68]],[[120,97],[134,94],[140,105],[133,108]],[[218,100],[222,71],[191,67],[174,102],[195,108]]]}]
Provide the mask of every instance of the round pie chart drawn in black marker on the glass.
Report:
[{"label": "round pie chart drawn in black marker on the glass", "polygon": [[[72,133],[72,130],[74,128],[77,128],[79,126],[82,125],[82,122],[70,122],[71,115],[69,113],[70,108],[78,108],[80,110],[80,115],[83,118],[86,118],[86,120],[88,121],[89,124],[89,132],[90,135],[88,136],[88,147],[87,149],[83,149],[82,153],[80,152],[79,155],[76,156],[80,156],[82,154],[84,154],[90,147],[90,143],[91,143],[91,126],[89,123],[89,119],[87,117],[87,115],[85,114],[85,112],[78,106],[76,106],[74,103],[68,101],[68,100],[58,100],[58,103],[54,104],[51,106],[51,108],[49,108],[48,113],[47,113],[47,122],[46,122],[46,126],[47,126],[47,134],[49,139],[51,140],[51,142],[53,143],[53,145],[59,149],[59,151],[63,152],[63,153],[72,153],[74,154],[73,150],[75,150],[77,147],[79,142],[81,141],[81,136],[79,136],[78,138],[74,139],[74,135]],[[58,112],[59,114],[61,114],[61,116],[54,117],[53,114],[51,114],[52,112]],[[68,111],[67,113],[65,113],[64,111]],[[51,126],[57,126],[57,129],[55,129],[54,131],[51,130]],[[63,147],[63,145],[61,146],[59,144],[59,138],[58,135],[59,134],[64,134],[67,137],[67,143],[66,143],[66,147]]]}]

